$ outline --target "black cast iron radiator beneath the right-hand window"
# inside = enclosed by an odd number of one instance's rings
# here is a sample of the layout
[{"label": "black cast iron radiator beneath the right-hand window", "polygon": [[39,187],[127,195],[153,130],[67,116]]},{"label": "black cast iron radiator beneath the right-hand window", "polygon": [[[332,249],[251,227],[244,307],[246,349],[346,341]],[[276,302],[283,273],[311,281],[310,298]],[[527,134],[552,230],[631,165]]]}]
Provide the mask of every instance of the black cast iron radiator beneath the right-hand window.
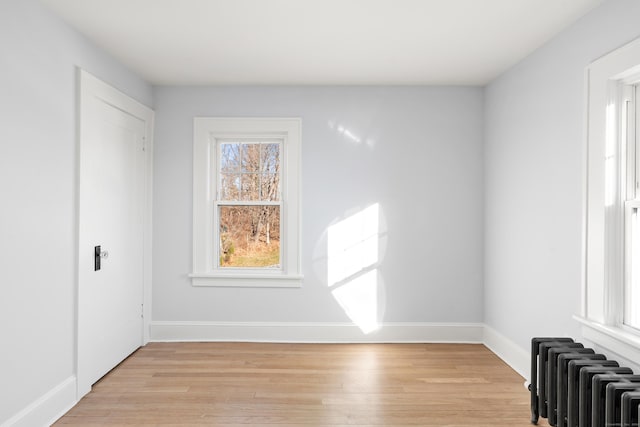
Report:
[{"label": "black cast iron radiator beneath the right-hand window", "polygon": [[640,375],[571,338],[531,340],[531,423],[640,427]]}]

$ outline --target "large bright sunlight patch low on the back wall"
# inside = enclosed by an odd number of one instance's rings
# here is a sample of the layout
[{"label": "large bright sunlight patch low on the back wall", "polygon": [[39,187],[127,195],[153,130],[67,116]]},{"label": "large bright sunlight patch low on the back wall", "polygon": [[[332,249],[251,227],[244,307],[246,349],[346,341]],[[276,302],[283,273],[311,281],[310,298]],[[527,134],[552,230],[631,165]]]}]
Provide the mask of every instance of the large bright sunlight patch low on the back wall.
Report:
[{"label": "large bright sunlight patch low on the back wall", "polygon": [[334,221],[314,257],[316,268],[326,269],[333,298],[365,335],[380,329],[385,311],[384,280],[378,268],[386,249],[381,217],[375,203]]}]

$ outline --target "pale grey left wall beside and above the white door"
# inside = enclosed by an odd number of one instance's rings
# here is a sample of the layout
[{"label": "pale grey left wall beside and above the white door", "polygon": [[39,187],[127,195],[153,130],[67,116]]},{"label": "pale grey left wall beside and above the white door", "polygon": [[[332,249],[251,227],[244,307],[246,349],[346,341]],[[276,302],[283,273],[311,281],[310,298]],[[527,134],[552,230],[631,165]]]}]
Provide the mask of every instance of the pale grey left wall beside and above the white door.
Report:
[{"label": "pale grey left wall beside and above the white door", "polygon": [[148,105],[153,92],[35,0],[0,1],[0,52],[3,424],[58,386],[75,393],[75,67]]}]

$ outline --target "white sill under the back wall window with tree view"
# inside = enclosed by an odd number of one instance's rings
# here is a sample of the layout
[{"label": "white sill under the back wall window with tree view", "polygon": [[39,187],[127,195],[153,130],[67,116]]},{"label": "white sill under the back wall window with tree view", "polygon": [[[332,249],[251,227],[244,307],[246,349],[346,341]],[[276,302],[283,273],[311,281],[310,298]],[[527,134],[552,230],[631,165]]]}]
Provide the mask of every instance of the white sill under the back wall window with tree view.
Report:
[{"label": "white sill under the back wall window with tree view", "polygon": [[290,274],[192,273],[192,286],[225,288],[300,288],[304,276]]}]

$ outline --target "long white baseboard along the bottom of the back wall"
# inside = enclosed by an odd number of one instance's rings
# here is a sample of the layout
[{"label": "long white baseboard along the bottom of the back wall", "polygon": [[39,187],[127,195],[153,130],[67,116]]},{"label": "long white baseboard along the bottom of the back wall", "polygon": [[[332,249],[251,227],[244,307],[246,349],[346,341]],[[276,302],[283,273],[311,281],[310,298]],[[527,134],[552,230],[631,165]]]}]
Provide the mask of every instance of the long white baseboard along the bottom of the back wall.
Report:
[{"label": "long white baseboard along the bottom of the back wall", "polygon": [[151,322],[151,341],[482,343],[480,323],[385,323],[364,334],[351,323]]}]

